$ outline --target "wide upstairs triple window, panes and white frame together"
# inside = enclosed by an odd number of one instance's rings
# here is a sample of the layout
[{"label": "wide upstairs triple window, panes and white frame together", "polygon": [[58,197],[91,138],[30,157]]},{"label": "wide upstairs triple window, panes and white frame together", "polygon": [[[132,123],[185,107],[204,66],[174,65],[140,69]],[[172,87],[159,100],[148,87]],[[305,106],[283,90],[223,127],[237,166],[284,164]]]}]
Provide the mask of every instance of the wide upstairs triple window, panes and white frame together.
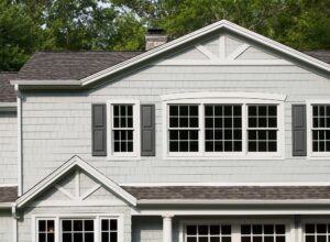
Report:
[{"label": "wide upstairs triple window, panes and white frame together", "polygon": [[284,98],[190,97],[164,102],[166,157],[282,157]]}]

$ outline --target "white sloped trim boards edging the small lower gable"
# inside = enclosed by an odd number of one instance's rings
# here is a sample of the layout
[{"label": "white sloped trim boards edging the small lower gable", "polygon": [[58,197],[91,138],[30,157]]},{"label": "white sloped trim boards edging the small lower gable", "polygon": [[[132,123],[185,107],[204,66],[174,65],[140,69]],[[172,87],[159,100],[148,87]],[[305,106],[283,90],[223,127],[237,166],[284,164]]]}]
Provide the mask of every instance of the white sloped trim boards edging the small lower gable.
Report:
[{"label": "white sloped trim boards edging the small lower gable", "polygon": [[[136,199],[130,195],[128,191],[122,189],[118,184],[106,177],[103,174],[98,172],[96,168],[87,164],[84,160],[81,160],[78,156],[72,157],[69,161],[67,161],[64,165],[62,165],[59,168],[57,168],[55,172],[53,172],[51,175],[45,177],[43,180],[41,180],[36,186],[31,188],[29,191],[26,191],[22,197],[20,197],[16,200],[16,207],[21,208],[24,205],[26,205],[29,201],[31,201],[33,198],[35,198],[37,195],[40,195],[42,191],[44,191],[47,187],[52,186],[56,180],[58,180],[63,175],[65,175],[68,170],[79,167],[84,172],[86,172],[88,175],[100,182],[102,185],[108,187],[110,190],[112,190],[114,194],[117,194],[119,197],[128,201],[132,206],[136,206]],[[91,191],[92,193],[92,191]],[[82,196],[89,196],[89,194],[84,194]]]}]

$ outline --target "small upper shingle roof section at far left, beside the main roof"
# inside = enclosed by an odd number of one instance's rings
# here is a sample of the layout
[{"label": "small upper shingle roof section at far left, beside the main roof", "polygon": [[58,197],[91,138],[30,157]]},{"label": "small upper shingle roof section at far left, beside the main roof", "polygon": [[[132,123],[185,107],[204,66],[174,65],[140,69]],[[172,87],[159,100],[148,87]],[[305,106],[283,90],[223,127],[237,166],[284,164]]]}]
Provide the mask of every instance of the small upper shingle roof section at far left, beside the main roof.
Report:
[{"label": "small upper shingle roof section at far left, beside the main roof", "polygon": [[16,95],[14,87],[10,85],[10,79],[15,79],[18,73],[0,72],[0,102],[15,102]]}]

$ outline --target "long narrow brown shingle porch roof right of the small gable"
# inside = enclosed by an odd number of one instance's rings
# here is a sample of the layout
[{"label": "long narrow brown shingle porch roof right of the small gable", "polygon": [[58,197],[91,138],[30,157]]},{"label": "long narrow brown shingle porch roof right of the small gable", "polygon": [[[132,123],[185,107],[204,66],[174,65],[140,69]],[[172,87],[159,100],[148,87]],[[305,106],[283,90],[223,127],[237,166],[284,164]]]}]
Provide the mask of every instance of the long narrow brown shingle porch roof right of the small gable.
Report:
[{"label": "long narrow brown shingle porch roof right of the small gable", "polygon": [[289,200],[330,199],[330,186],[122,187],[136,199]]}]

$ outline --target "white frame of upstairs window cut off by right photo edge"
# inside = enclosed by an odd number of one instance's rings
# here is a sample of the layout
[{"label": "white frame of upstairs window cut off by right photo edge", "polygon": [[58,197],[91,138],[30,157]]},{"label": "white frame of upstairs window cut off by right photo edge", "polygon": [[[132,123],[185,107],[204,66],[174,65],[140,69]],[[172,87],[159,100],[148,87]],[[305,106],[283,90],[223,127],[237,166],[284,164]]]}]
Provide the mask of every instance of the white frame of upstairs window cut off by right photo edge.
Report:
[{"label": "white frame of upstairs window cut off by right photo edge", "polygon": [[310,160],[327,160],[330,157],[330,152],[314,152],[312,151],[312,109],[314,105],[329,105],[330,99],[307,100],[306,101],[306,124],[307,124],[307,157]]}]

